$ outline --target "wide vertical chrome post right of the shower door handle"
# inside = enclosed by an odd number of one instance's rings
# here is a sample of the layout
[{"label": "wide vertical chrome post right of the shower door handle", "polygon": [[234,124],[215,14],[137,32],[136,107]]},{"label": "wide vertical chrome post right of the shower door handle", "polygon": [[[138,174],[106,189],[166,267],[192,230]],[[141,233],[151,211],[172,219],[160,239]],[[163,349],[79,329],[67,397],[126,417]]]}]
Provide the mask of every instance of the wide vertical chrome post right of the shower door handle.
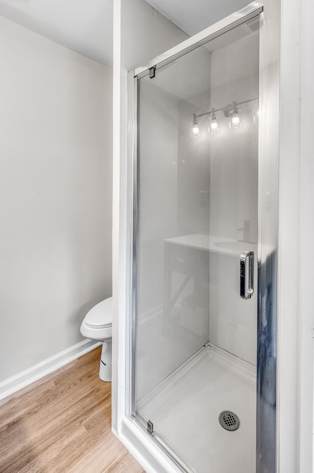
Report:
[{"label": "wide vertical chrome post right of the shower door handle", "polygon": [[275,473],[279,469],[277,423],[279,126],[280,1],[265,0],[264,11],[260,15],[257,473]]}]

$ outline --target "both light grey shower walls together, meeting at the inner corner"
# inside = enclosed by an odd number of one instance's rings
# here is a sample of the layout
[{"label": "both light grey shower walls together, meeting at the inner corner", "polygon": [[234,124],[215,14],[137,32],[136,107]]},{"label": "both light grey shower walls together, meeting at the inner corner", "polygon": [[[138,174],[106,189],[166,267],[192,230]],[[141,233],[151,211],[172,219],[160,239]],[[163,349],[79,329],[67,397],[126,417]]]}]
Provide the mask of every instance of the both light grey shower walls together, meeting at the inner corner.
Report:
[{"label": "both light grey shower walls together, meeting at the inner corner", "polygon": [[[185,58],[184,67],[174,61],[157,70],[154,79],[140,81],[137,373],[145,383],[137,385],[137,398],[208,340],[256,363],[256,318],[250,315],[252,309],[256,313],[256,298],[239,296],[239,255],[208,252],[209,280],[196,283],[191,277],[181,291],[186,273],[169,272],[165,251],[167,245],[177,251],[172,243],[187,235],[243,239],[238,230],[243,220],[250,221],[250,244],[257,242],[258,101],[240,107],[240,129],[230,129],[229,119],[220,113],[220,133],[209,135],[209,117],[204,116],[199,118],[201,137],[192,139],[191,121],[193,114],[212,107],[258,97],[258,51],[258,36],[251,34],[212,52],[199,48],[190,61]],[[198,70],[194,61],[202,64]],[[193,265],[204,256],[201,251],[193,257]],[[178,258],[184,260],[181,253]],[[167,297],[176,300],[165,315]]]}]

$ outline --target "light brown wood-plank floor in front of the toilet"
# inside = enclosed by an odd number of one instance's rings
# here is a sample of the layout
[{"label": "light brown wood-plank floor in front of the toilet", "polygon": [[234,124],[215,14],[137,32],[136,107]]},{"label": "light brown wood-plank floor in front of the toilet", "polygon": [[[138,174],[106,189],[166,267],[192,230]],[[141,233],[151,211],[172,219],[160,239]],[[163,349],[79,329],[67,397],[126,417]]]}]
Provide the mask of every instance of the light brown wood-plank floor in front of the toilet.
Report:
[{"label": "light brown wood-plank floor in front of the toilet", "polygon": [[101,347],[0,406],[0,473],[144,473],[111,432]]}]

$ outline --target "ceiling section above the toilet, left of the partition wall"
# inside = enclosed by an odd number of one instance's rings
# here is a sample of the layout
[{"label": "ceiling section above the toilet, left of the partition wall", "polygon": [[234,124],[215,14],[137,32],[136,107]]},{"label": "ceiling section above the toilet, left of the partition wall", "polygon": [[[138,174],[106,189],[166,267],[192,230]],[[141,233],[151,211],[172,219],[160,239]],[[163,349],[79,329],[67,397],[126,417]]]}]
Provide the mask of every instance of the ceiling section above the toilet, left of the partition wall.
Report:
[{"label": "ceiling section above the toilet, left of the partition wall", "polygon": [[113,0],[0,0],[0,15],[112,67]]}]

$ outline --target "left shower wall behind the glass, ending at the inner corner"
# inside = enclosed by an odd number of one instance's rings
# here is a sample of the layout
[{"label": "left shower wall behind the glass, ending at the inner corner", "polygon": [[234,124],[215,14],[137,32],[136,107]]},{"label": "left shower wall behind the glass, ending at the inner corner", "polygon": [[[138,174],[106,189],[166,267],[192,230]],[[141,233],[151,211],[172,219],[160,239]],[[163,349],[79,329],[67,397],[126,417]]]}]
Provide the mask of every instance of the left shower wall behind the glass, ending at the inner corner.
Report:
[{"label": "left shower wall behind the glass, ending at the inner corner", "polygon": [[[145,77],[138,83],[136,399],[208,341],[208,319],[205,329],[198,333],[183,324],[183,299],[193,294],[194,281],[191,277],[180,295],[175,296],[186,275],[172,266],[182,258],[175,254],[176,242],[169,239],[203,231],[201,222],[205,222],[202,225],[208,233],[208,204],[207,217],[199,215],[196,219],[194,204],[187,211],[185,204],[193,193],[198,195],[199,187],[209,183],[206,148],[201,157],[190,145],[191,113],[204,110],[201,102],[205,108],[209,103],[208,94],[204,94],[209,83],[209,58],[208,51],[201,48],[196,58],[175,61],[157,70],[154,79]],[[195,94],[195,61],[204,65],[199,94]],[[188,82],[178,80],[180,77]],[[203,168],[197,165],[199,160]],[[185,175],[178,169],[179,163],[181,166],[184,162]],[[205,174],[206,183],[200,184]],[[201,210],[204,212],[204,208]],[[175,303],[169,309],[167,303],[171,300]]]}]

